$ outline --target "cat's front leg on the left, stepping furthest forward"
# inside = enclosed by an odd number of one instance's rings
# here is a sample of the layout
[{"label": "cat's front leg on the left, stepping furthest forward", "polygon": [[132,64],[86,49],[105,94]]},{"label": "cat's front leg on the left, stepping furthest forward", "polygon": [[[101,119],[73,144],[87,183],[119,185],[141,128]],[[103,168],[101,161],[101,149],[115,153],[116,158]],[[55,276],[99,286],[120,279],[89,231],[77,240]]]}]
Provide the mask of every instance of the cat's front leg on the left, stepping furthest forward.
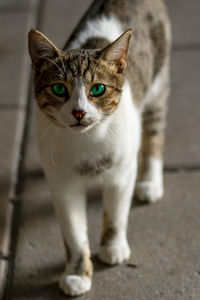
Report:
[{"label": "cat's front leg on the left, stepping furthest forward", "polygon": [[[56,213],[67,252],[67,264],[60,288],[67,295],[81,295],[91,288],[93,266],[87,236],[86,197],[75,181],[50,183]],[[58,182],[57,182],[58,183]]]}]

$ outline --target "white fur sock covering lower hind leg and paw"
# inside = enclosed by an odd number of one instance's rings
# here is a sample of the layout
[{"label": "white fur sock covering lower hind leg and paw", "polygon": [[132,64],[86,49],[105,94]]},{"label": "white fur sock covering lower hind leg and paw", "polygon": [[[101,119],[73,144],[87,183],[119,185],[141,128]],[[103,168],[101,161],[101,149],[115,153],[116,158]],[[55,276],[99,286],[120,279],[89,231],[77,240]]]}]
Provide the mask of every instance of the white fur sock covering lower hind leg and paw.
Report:
[{"label": "white fur sock covering lower hind leg and paw", "polygon": [[136,185],[136,195],[141,201],[156,202],[161,199],[163,188],[163,161],[154,156],[148,158],[147,172]]}]

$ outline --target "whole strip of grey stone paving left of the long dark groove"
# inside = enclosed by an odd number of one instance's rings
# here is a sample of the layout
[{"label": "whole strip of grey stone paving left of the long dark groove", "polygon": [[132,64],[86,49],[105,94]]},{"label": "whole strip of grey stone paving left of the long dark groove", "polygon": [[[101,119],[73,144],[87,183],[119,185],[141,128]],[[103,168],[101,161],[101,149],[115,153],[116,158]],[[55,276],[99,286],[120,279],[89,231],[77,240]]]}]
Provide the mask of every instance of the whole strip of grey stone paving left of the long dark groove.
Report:
[{"label": "whole strip of grey stone paving left of the long dark groove", "polygon": [[[0,3],[0,298],[7,280],[25,105],[29,88],[27,31],[33,26],[38,1]],[[23,6],[23,9],[22,9]]]}]

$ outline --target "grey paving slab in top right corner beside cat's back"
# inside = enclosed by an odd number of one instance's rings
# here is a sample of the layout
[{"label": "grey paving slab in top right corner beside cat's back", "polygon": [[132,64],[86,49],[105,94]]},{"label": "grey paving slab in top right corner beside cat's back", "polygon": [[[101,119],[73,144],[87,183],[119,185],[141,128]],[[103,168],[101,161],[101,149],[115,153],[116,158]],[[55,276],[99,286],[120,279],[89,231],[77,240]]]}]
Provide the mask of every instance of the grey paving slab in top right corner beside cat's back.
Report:
[{"label": "grey paving slab in top right corner beside cat's back", "polygon": [[165,0],[165,3],[172,21],[173,43],[199,45],[199,0]]}]

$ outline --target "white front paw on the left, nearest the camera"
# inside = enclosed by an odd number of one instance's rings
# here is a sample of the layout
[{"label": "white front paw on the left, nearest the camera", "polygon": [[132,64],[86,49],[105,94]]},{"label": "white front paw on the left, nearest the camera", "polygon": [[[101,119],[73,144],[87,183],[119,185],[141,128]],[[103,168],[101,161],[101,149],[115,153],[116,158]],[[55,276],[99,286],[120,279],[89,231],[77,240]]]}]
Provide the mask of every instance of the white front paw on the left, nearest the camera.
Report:
[{"label": "white front paw on the left, nearest the camera", "polygon": [[91,289],[92,281],[87,276],[63,274],[60,279],[61,290],[70,296],[78,296]]}]

